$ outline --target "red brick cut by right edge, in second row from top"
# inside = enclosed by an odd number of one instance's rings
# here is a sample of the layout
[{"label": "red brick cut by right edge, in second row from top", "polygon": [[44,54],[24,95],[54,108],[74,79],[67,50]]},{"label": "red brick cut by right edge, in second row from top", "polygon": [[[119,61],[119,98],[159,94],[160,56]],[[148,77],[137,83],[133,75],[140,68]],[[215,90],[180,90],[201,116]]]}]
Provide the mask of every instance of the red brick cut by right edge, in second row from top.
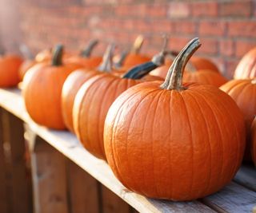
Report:
[{"label": "red brick cut by right edge, in second row from top", "polygon": [[255,21],[234,21],[228,23],[229,36],[255,37]]}]

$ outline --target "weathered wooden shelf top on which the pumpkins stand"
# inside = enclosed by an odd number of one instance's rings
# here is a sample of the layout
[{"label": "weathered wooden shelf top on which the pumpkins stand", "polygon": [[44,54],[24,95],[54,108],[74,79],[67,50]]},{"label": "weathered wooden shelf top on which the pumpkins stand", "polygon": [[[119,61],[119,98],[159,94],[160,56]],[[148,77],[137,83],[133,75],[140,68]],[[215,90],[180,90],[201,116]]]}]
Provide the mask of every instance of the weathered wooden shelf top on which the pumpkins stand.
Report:
[{"label": "weathered wooden shelf top on which the pumpkins stand", "polygon": [[[82,148],[77,138],[66,131],[54,131],[35,124],[26,112],[19,89],[0,89],[0,106],[23,120],[38,136],[108,187],[131,207],[140,212],[251,212],[256,206],[256,172],[251,166],[242,167],[235,182],[206,198],[193,202],[171,202],[147,199],[129,191],[115,178],[109,166]],[[248,172],[249,171],[249,172]],[[246,175],[247,174],[247,175]],[[245,180],[246,179],[246,180]],[[243,186],[242,186],[243,185]],[[245,187],[244,187],[245,186]]]}]

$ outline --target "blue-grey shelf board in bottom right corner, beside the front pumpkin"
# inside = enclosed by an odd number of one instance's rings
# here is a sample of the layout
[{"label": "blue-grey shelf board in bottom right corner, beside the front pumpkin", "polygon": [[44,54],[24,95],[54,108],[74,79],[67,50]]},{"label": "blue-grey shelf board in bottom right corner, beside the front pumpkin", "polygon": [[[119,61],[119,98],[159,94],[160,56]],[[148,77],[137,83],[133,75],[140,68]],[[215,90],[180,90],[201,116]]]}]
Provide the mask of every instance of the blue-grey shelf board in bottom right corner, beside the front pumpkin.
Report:
[{"label": "blue-grey shelf board in bottom right corner, beside the front pumpkin", "polygon": [[203,198],[202,201],[216,211],[232,213],[252,212],[256,205],[256,193],[238,183],[230,183],[214,195]]}]

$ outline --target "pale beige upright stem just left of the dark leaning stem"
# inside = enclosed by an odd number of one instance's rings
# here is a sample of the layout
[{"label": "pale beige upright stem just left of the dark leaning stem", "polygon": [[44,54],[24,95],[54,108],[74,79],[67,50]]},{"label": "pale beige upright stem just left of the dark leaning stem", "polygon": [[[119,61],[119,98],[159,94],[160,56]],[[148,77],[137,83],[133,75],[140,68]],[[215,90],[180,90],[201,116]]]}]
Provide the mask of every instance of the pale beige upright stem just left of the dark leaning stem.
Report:
[{"label": "pale beige upright stem just left of the dark leaning stem", "polygon": [[110,73],[112,70],[112,57],[114,54],[115,45],[108,45],[106,52],[103,55],[102,63],[98,66],[98,71]]}]

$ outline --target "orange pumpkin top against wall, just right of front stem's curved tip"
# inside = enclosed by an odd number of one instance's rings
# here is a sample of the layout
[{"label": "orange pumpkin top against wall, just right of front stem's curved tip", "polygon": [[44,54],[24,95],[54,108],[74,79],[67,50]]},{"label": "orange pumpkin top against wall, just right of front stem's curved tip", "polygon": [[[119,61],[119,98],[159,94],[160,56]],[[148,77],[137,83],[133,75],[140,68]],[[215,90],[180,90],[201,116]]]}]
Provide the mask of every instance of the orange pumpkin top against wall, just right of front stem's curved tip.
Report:
[{"label": "orange pumpkin top against wall, just right of front stem's curved tip", "polygon": [[210,69],[214,72],[219,73],[218,67],[214,65],[212,61],[209,59],[206,59],[204,57],[191,57],[190,58],[190,63],[194,65],[195,69]]}]

